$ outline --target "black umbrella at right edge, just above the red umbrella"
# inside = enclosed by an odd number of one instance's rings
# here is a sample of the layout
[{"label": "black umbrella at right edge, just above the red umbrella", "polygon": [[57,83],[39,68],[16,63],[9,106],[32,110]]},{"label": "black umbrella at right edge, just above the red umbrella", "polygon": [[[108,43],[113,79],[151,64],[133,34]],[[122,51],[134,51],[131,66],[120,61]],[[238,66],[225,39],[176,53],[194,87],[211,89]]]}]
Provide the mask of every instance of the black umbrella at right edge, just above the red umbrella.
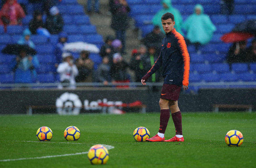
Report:
[{"label": "black umbrella at right edge, just above the red umbrella", "polygon": [[238,23],[232,31],[247,32],[255,36],[256,35],[256,19],[251,19],[251,20]]}]

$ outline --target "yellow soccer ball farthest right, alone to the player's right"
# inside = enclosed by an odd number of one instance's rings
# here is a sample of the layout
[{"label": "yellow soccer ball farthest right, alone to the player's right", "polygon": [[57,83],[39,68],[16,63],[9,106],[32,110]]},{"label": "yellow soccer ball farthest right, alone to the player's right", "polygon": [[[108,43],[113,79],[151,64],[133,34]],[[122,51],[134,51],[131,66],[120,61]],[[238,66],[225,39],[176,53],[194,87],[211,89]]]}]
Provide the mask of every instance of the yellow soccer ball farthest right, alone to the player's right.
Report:
[{"label": "yellow soccer ball farthest right, alone to the player's right", "polygon": [[225,136],[225,142],[230,147],[239,147],[243,143],[243,134],[238,130],[230,130]]}]

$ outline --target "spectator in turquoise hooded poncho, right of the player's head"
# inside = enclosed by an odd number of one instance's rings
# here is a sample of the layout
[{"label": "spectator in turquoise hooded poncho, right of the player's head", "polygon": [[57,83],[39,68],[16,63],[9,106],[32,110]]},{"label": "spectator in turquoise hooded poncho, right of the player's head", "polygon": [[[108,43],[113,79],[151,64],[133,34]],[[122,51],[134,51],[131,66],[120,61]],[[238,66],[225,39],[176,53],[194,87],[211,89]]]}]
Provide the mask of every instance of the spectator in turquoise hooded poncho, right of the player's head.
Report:
[{"label": "spectator in turquoise hooded poncho, right of the player's head", "polygon": [[195,11],[182,24],[182,28],[187,31],[187,43],[195,45],[196,51],[199,51],[199,45],[207,44],[211,38],[216,27],[213,25],[209,16],[204,14],[203,6],[195,5]]}]

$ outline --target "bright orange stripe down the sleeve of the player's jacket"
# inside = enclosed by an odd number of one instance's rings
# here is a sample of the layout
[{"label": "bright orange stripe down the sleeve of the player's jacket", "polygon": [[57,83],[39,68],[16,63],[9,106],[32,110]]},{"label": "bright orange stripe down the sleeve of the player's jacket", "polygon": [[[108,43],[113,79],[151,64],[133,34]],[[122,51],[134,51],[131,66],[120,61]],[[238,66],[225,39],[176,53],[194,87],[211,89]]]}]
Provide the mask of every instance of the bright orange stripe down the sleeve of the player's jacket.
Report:
[{"label": "bright orange stripe down the sleeve of the player's jacket", "polygon": [[184,37],[181,34],[179,34],[177,31],[174,31],[173,33],[174,33],[174,36],[178,39],[178,46],[180,48],[181,55],[183,57],[183,62],[184,62],[182,85],[188,86],[190,58],[189,58],[189,53],[187,51],[187,45],[185,43]]}]

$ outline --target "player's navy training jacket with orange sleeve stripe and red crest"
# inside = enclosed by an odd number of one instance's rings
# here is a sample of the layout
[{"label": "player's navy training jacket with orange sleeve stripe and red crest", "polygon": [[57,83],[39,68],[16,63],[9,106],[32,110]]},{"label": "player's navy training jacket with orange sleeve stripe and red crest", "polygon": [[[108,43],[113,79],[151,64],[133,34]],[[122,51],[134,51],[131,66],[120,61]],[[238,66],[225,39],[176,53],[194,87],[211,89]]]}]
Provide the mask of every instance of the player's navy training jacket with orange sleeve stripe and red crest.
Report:
[{"label": "player's navy training jacket with orange sleeve stripe and red crest", "polygon": [[164,84],[188,86],[189,53],[184,37],[175,28],[162,40],[162,48],[158,59],[148,71],[150,76],[162,66]]}]

